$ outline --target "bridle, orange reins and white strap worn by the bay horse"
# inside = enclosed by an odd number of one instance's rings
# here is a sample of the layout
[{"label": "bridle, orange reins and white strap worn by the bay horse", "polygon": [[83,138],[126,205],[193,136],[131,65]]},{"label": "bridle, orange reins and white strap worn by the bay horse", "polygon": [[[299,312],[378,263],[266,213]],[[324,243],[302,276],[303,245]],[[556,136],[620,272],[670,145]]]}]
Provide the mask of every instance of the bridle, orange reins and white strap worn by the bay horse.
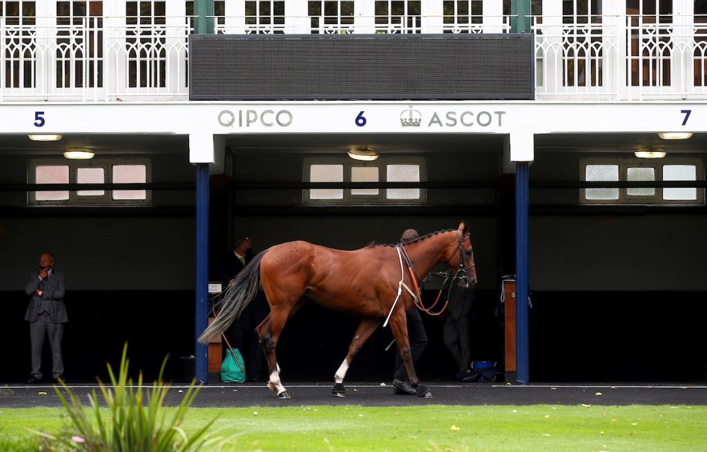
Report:
[{"label": "bridle, orange reins and white strap worn by the bay horse", "polygon": [[[445,272],[432,273],[435,276],[444,276],[445,279],[442,282],[442,287],[440,287],[440,291],[437,294],[437,298],[431,304],[430,307],[425,307],[425,305],[422,302],[422,296],[420,294],[420,287],[419,287],[420,278],[417,275],[417,272],[415,271],[415,267],[412,265],[412,261],[410,260],[410,256],[408,256],[408,254],[407,254],[407,250],[405,249],[405,247],[402,244],[398,244],[395,246],[395,249],[397,249],[397,252],[398,252],[398,258],[400,260],[400,273],[401,273],[401,275],[400,275],[400,282],[398,283],[397,297],[395,297],[395,302],[393,302],[393,305],[390,308],[390,312],[388,313],[388,316],[385,319],[385,322],[383,323],[384,327],[387,325],[388,320],[390,319],[390,315],[392,314],[393,309],[395,309],[395,304],[397,304],[397,301],[398,301],[400,295],[402,294],[402,287],[404,287],[405,290],[407,290],[409,292],[409,294],[412,295],[412,298],[415,303],[415,307],[417,307],[417,309],[425,312],[426,314],[428,314],[430,316],[438,316],[438,315],[442,314],[445,311],[445,309],[447,309],[447,306],[449,305],[450,295],[452,295],[452,293],[453,293],[452,288],[456,288],[456,284],[458,284],[459,280],[464,280],[464,285],[466,287],[469,287],[469,280],[468,280],[469,278],[468,278],[468,271],[467,270],[469,270],[470,268],[473,268],[474,266],[476,266],[476,264],[472,263],[470,266],[464,266],[464,255],[462,254],[462,253],[464,253],[464,250],[462,250],[462,243],[467,240],[469,240],[469,234],[467,234],[466,237],[464,237],[464,239],[462,240],[462,233],[459,230],[457,230],[457,242],[459,244],[458,245],[459,268],[457,268],[453,277],[452,277],[452,269],[451,268],[450,268],[450,270],[447,270]],[[412,285],[414,287],[415,292],[413,292],[409,287],[407,287],[407,285],[405,285],[405,283],[403,283],[403,280],[405,279],[404,269],[403,269],[403,265],[402,265],[403,260],[405,261],[405,264],[407,265],[407,268],[410,272],[410,277],[411,277]],[[450,277],[452,277],[451,280],[450,280]],[[442,297],[442,293],[445,290],[445,284],[447,284],[448,281],[450,281],[450,283],[447,288],[447,297],[445,297],[444,306],[439,311],[432,311],[432,309],[434,307],[436,307],[437,303],[440,301],[440,298]]]}]

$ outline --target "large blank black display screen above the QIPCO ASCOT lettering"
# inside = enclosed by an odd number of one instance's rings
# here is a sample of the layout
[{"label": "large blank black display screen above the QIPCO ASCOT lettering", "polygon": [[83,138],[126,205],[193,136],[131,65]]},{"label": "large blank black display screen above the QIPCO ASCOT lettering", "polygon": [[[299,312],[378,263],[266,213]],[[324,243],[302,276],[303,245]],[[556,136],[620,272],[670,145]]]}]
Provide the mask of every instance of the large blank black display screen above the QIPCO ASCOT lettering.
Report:
[{"label": "large blank black display screen above the QIPCO ASCOT lettering", "polygon": [[191,100],[532,99],[532,34],[189,35]]}]

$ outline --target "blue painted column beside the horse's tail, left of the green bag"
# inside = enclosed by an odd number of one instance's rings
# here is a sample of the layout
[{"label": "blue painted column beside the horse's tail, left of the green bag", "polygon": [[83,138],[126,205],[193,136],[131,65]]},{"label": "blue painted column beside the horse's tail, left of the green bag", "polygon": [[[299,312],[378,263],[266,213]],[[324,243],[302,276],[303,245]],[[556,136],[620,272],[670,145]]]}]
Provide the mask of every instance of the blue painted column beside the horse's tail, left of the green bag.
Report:
[{"label": "blue painted column beside the horse's tail, left of the green bag", "polygon": [[197,163],[197,275],[194,316],[194,376],[198,382],[209,382],[208,347],[197,342],[209,323],[209,164]]}]

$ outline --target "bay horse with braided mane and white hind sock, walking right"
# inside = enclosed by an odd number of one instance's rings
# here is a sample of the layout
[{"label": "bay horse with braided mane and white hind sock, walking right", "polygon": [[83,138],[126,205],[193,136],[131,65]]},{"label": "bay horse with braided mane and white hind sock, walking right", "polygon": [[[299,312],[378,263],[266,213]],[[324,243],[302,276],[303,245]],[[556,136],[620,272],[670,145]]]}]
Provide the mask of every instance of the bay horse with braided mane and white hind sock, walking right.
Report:
[{"label": "bay horse with braided mane and white hind sock, walking right", "polygon": [[335,396],[344,397],[346,370],[363,343],[381,323],[385,326],[390,321],[411,386],[417,396],[431,397],[413,368],[405,313],[415,309],[414,304],[419,306],[419,283],[438,263],[450,266],[452,284],[457,278],[467,278],[476,285],[466,222],[462,221],[457,230],[434,232],[396,245],[370,244],[355,251],[301,241],[271,246],[238,273],[233,286],[223,294],[216,319],[201,333],[199,342],[208,343],[225,331],[262,285],[270,314],[256,331],[269,367],[268,387],[279,398],[290,398],[280,381],[275,348],[286,321],[303,306],[306,295],[322,307],[363,318],[344,362],[334,374]]}]

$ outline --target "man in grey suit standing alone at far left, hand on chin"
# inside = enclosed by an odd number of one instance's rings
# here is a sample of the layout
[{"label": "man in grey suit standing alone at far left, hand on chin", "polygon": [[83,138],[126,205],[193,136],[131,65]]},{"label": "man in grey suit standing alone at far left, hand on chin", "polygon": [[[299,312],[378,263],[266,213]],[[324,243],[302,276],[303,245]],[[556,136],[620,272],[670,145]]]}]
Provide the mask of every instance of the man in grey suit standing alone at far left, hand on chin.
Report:
[{"label": "man in grey suit standing alone at far left, hand on chin", "polygon": [[32,345],[32,376],[28,383],[42,381],[42,346],[45,336],[52,347],[52,378],[54,383],[64,375],[62,359],[62,335],[66,317],[64,305],[64,273],[54,271],[54,256],[45,253],[40,256],[40,270],[32,273],[25,286],[25,294],[30,295],[25,320],[30,322],[30,344]]}]

